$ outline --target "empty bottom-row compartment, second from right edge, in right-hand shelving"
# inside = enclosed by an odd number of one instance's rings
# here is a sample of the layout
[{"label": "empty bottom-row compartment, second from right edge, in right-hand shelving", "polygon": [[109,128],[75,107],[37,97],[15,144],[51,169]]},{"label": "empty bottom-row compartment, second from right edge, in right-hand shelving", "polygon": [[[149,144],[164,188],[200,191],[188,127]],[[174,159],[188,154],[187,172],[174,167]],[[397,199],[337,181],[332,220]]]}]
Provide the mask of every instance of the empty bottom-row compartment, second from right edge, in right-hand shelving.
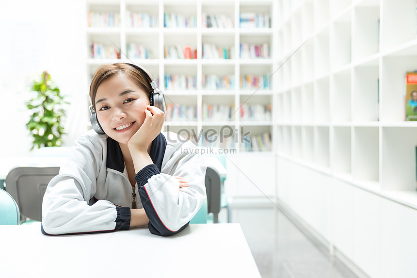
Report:
[{"label": "empty bottom-row compartment, second from right edge, in right-hand shelving", "polygon": [[354,127],[352,174],[354,180],[379,181],[378,127]]}]

